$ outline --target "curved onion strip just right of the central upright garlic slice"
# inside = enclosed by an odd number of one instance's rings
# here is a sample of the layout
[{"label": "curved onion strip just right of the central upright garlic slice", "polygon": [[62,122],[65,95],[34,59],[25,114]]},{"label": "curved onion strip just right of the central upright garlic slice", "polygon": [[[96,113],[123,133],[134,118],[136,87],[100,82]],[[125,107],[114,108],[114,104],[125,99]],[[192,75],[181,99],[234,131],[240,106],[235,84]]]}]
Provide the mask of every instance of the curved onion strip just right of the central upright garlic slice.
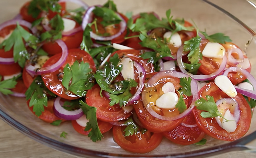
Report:
[{"label": "curved onion strip just right of the central upright garlic slice", "polygon": [[131,105],[134,103],[134,101],[139,100],[139,98],[141,97],[139,94],[141,94],[142,92],[142,89],[144,87],[144,81],[146,78],[145,68],[141,64],[138,64],[138,62],[136,61],[134,61],[134,66],[137,68],[137,71],[139,74],[139,86],[136,93],[131,98],[128,99],[128,103],[126,104],[126,106]]}]

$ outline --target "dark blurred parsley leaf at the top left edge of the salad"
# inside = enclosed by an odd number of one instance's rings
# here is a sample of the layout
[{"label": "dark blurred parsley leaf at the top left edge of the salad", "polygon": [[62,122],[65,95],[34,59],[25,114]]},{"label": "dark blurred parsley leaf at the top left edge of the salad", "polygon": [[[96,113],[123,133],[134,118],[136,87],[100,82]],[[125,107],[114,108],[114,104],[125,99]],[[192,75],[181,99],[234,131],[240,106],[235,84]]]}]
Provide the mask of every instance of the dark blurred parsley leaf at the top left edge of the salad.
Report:
[{"label": "dark blurred parsley leaf at the top left edge of the salad", "polygon": [[61,5],[58,4],[58,0],[32,0],[28,7],[28,13],[33,18],[37,18],[41,11],[48,12],[60,12]]}]

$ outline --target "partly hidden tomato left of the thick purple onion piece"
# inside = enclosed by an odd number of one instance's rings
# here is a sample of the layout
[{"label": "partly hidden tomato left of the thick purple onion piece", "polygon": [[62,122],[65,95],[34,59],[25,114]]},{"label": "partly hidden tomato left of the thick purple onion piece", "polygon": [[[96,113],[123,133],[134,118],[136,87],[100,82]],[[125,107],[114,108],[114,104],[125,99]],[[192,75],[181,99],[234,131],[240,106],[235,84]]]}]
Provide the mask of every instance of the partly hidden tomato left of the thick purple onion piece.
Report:
[{"label": "partly hidden tomato left of the thick purple onion piece", "polygon": [[[29,107],[29,101],[27,100],[27,106]],[[56,120],[62,120],[65,121],[64,119],[61,119],[57,116],[55,116],[54,112],[53,112],[53,104],[54,104],[54,100],[48,100],[47,102],[47,107],[44,106],[44,112],[42,112],[42,114],[38,117],[35,115],[35,112],[33,112],[33,106],[29,107],[29,110],[39,119],[48,122],[48,123],[52,123]]]}]

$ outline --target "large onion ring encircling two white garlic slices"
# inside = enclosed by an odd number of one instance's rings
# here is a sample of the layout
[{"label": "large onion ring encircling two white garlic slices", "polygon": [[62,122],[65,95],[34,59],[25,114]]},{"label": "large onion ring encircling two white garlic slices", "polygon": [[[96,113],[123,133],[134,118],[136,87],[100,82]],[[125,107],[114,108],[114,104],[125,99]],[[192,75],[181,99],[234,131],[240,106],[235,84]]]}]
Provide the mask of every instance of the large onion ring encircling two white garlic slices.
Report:
[{"label": "large onion ring encircling two white garlic slices", "polygon": [[[153,77],[151,77],[148,81],[148,83],[146,84],[146,87],[153,87],[155,86],[156,84],[158,84],[159,81],[163,80],[163,76],[164,77],[176,77],[176,78],[182,78],[182,77],[190,77],[189,75],[185,74],[185,73],[182,73],[182,72],[176,72],[176,71],[161,71],[161,72],[158,72],[157,74],[155,74]],[[189,105],[189,107],[187,108],[187,110],[185,110],[183,113],[177,115],[177,116],[174,116],[174,117],[165,117],[165,116],[162,116],[158,113],[156,113],[154,110],[152,110],[152,108],[150,108],[150,104],[151,103],[147,103],[146,102],[146,92],[143,91],[142,92],[142,101],[143,101],[143,104],[144,104],[144,107],[146,108],[146,110],[148,110],[148,112],[158,118],[158,119],[161,119],[161,120],[165,120],[165,121],[174,121],[174,120],[177,120],[177,119],[180,119],[180,118],[183,118],[183,117],[186,117],[189,113],[191,113],[192,109],[194,108],[194,104],[195,104],[195,101],[197,100],[198,98],[198,87],[197,87],[197,84],[196,84],[196,81],[191,78],[191,93],[192,93],[192,103],[191,105]],[[154,103],[153,103],[154,104]]]}]

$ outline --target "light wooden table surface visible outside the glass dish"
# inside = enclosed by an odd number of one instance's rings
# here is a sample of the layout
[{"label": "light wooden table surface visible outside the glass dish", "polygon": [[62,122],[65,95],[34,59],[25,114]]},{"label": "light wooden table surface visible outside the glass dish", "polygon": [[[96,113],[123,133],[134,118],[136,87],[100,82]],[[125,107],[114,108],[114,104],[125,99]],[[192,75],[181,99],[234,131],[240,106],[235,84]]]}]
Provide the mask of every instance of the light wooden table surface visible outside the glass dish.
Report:
[{"label": "light wooden table surface visible outside the glass dish", "polygon": [[[24,4],[26,0],[0,0],[1,14],[8,11],[13,17],[17,14],[19,7]],[[221,0],[212,0],[216,4],[219,4]],[[221,7],[226,8],[227,11],[235,14],[239,19],[242,19],[245,24],[256,30],[256,9],[249,7],[241,9],[241,6],[246,3],[245,0],[223,0],[225,2]],[[13,9],[13,7],[15,9]],[[192,6],[193,7],[193,6]],[[0,16],[0,21],[7,20],[3,16]],[[253,145],[256,146],[256,143]],[[7,125],[4,121],[0,120],[0,158],[42,158],[42,157],[55,157],[55,158],[70,158],[66,153],[56,151],[43,144],[32,140],[29,137],[24,136],[20,132],[14,130]],[[256,153],[247,151],[234,151],[230,153],[220,154],[212,156],[210,158],[255,158]]]}]

